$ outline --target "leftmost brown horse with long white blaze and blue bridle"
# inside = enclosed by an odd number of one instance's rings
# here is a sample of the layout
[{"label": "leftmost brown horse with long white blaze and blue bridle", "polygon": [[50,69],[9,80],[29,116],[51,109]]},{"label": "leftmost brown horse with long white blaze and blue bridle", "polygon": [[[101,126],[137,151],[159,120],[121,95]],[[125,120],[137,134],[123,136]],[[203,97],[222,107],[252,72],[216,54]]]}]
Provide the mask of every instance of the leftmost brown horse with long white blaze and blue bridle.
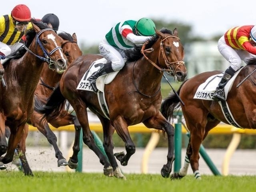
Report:
[{"label": "leftmost brown horse with long white blaze and blue bridle", "polygon": [[[42,73],[44,62],[56,72],[67,67],[63,44],[51,25],[31,20],[33,29],[26,32],[26,53],[19,59],[11,59],[4,65],[6,86],[0,87],[0,162],[12,161],[15,148],[24,133],[24,126],[33,112],[34,91]],[[10,128],[8,145],[5,125]],[[5,156],[2,156],[6,153]]]}]

